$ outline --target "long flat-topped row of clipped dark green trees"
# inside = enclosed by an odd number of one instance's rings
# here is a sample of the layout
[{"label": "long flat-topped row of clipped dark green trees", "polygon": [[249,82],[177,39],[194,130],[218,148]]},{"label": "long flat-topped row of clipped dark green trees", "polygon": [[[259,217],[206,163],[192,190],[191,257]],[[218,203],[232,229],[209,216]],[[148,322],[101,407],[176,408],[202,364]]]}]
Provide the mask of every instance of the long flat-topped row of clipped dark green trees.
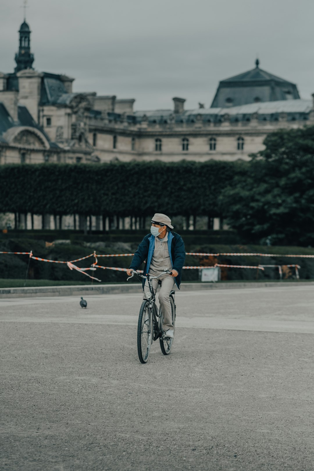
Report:
[{"label": "long flat-topped row of clipped dark green trees", "polygon": [[[114,162],[0,167],[0,212],[219,216],[233,162]],[[136,190],[132,192],[132,189]]]}]

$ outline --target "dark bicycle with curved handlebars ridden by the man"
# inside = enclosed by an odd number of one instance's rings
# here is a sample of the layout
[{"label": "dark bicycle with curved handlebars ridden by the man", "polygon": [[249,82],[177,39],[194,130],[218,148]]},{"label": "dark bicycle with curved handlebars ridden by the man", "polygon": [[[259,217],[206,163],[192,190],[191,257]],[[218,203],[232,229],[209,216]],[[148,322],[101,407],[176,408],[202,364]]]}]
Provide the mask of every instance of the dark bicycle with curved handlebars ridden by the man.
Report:
[{"label": "dark bicycle with curved handlebars ridden by the man", "polygon": [[[135,270],[132,270],[132,275],[127,278],[127,281],[132,278],[135,274],[143,279],[147,279],[149,291],[145,293],[145,298],[142,302],[141,309],[138,315],[137,324],[137,353],[141,363],[146,363],[149,357],[149,352],[153,341],[159,339],[160,348],[164,355],[169,355],[173,338],[166,337],[165,332],[162,330],[163,317],[161,308],[157,313],[156,298],[152,286],[152,279],[157,279],[164,273],[172,275],[172,271],[164,270],[158,276],[141,275]],[[171,305],[171,317],[173,324],[173,333],[175,332],[175,320],[176,320],[176,305],[175,305],[175,291],[171,290],[169,294],[170,305]]]}]

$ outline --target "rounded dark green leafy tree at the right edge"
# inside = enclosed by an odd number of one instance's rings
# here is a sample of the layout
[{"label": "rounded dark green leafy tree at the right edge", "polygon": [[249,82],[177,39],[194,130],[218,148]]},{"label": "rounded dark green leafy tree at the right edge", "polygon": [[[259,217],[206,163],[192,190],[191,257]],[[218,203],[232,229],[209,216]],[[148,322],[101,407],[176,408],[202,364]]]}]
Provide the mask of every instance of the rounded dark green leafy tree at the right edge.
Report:
[{"label": "rounded dark green leafy tree at the right edge", "polygon": [[314,244],[314,128],[269,134],[219,202],[246,240]]}]

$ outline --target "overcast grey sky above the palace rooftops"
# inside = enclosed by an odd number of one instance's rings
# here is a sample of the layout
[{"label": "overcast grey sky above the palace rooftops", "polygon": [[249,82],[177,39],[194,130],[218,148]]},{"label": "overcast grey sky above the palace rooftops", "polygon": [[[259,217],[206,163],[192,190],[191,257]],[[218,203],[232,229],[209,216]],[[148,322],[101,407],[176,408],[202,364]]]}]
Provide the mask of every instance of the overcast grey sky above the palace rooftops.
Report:
[{"label": "overcast grey sky above the palace rooftops", "polygon": [[[23,0],[0,0],[0,72],[12,72]],[[260,67],[314,93],[314,1],[28,0],[34,68],[74,91],[172,108],[210,106],[219,80]]]}]

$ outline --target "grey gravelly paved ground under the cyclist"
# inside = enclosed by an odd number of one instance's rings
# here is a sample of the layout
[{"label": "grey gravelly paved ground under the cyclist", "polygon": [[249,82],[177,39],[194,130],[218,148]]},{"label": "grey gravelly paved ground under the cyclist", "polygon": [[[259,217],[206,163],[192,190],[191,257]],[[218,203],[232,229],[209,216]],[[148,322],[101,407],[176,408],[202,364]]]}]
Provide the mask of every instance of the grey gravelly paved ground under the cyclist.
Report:
[{"label": "grey gravelly paved ground under the cyclist", "polygon": [[0,301],[0,470],[314,470],[311,286],[180,292],[173,353],[140,293]]}]

